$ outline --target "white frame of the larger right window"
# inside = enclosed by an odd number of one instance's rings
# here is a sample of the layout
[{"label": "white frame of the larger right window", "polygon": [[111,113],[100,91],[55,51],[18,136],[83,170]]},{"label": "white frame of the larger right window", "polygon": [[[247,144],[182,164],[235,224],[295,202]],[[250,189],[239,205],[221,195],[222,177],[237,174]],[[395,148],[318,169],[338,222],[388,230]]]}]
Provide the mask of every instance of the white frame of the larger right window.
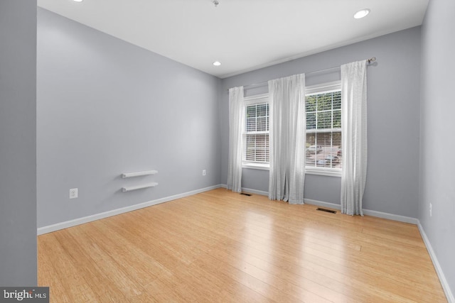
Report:
[{"label": "white frame of the larger right window", "polygon": [[[324,94],[324,93],[329,93],[329,92],[341,92],[341,80],[339,81],[333,81],[333,82],[326,82],[323,84],[315,84],[311,85],[308,87],[305,87],[305,106],[306,106],[306,97],[311,95],[311,94]],[[331,110],[333,112],[333,109]],[[341,110],[340,110],[341,111]],[[321,131],[318,131],[316,129],[311,129],[311,133],[330,133],[333,131],[338,131],[338,128],[329,128],[330,131],[327,131],[327,129],[323,129]],[[308,129],[305,126],[305,138],[308,133]],[[341,136],[343,137],[343,133],[341,131],[341,128],[339,128],[339,131],[341,132]],[[306,153],[306,147],[305,147],[305,153]],[[306,156],[305,156],[306,160]],[[309,175],[324,175],[324,176],[331,176],[331,177],[341,177],[341,173],[343,172],[343,167],[341,168],[333,168],[333,167],[315,167],[315,166],[307,166],[305,164],[305,174]]]}]

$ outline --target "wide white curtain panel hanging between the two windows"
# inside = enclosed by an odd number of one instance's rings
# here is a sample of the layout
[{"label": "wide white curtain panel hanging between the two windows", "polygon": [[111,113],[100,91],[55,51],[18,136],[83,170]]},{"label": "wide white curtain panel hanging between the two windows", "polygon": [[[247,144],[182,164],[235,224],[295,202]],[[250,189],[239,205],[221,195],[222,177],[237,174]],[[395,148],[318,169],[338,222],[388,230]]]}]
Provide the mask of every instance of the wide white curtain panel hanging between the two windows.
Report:
[{"label": "wide white curtain panel hanging between the two windows", "polygon": [[269,199],[304,204],[305,75],[269,81]]}]

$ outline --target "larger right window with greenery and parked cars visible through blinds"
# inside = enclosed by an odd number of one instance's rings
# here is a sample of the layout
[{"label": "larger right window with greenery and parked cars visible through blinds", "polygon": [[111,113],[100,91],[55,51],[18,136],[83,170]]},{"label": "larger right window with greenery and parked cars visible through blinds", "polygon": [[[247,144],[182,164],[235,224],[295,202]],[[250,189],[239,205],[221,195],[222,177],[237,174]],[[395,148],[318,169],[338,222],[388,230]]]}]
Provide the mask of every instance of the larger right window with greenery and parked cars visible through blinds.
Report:
[{"label": "larger right window with greenery and parked cars visible through blinds", "polygon": [[306,170],[341,172],[341,84],[306,89]]}]

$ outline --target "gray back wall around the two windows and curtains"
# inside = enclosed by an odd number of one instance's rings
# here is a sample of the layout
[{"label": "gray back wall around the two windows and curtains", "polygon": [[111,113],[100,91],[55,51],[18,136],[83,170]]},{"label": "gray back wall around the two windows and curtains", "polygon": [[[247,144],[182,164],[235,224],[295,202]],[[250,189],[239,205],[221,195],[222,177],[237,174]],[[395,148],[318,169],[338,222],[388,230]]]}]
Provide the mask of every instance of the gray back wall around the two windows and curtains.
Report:
[{"label": "gray back wall around the two windows and curtains", "polygon": [[[223,79],[220,99],[221,181],[225,183],[228,175],[228,88],[324,70],[373,56],[378,60],[368,67],[368,179],[363,206],[365,209],[416,218],[419,185],[419,27]],[[339,79],[339,71],[309,75],[306,82],[315,84],[336,77]],[[255,91],[260,92],[260,89]],[[268,190],[267,170],[244,169],[243,172],[243,187]],[[340,177],[306,175],[306,199],[339,204],[340,189]]]}]

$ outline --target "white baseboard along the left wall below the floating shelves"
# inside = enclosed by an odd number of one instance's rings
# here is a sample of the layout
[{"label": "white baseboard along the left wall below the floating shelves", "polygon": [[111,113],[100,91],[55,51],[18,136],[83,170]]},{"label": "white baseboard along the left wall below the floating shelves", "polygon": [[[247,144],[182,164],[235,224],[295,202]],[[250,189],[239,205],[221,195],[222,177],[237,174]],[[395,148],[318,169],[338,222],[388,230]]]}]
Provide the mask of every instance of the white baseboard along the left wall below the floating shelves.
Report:
[{"label": "white baseboard along the left wall below the floating shelves", "polygon": [[91,221],[104,219],[109,216],[116,216],[117,214],[124,214],[129,211],[135,211],[137,209],[142,209],[144,207],[148,207],[148,206],[152,206],[152,205],[156,205],[156,204],[160,204],[160,203],[164,203],[164,202],[169,202],[169,201],[172,201],[175,199],[180,199],[183,197],[192,196],[193,194],[199,194],[200,192],[208,192],[209,190],[217,189],[220,187],[223,187],[223,185],[222,184],[213,185],[213,186],[205,187],[202,189],[196,189],[191,192],[184,192],[183,194],[176,194],[176,195],[173,195],[170,197],[164,197],[161,199],[156,199],[156,200],[152,200],[152,201],[148,201],[148,202],[144,202],[144,203],[140,203],[140,204],[134,204],[131,206],[122,207],[121,209],[113,209],[112,211],[105,211],[100,214],[93,214],[91,216],[85,216],[85,217],[73,219],[70,221],[60,222],[58,224],[43,226],[43,227],[37,228],[37,234],[39,236],[44,233],[51,233],[53,231],[58,231],[63,228],[68,228],[68,227],[72,227],[72,226],[76,226],[76,225],[80,225],[80,224],[85,224],[85,223],[88,223]]}]

